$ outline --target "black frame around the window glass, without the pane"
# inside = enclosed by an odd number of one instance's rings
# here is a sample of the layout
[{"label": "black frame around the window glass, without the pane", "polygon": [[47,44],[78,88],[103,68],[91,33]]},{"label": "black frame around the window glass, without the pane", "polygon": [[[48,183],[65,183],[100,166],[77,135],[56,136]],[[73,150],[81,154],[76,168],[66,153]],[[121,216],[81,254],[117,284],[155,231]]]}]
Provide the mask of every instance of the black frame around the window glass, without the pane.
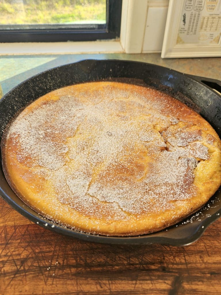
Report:
[{"label": "black frame around the window glass, without the pane", "polygon": [[122,0],[107,0],[107,27],[98,24],[73,28],[0,30],[0,42],[65,42],[116,39],[120,36]]}]

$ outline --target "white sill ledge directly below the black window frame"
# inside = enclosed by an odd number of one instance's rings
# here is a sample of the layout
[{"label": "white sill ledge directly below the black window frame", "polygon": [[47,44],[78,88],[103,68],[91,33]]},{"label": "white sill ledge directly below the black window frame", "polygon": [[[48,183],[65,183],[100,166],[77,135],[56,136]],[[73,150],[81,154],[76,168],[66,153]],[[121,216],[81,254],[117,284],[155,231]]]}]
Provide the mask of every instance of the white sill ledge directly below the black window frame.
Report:
[{"label": "white sill ledge directly below the black window frame", "polygon": [[120,41],[0,43],[0,55],[123,53]]}]

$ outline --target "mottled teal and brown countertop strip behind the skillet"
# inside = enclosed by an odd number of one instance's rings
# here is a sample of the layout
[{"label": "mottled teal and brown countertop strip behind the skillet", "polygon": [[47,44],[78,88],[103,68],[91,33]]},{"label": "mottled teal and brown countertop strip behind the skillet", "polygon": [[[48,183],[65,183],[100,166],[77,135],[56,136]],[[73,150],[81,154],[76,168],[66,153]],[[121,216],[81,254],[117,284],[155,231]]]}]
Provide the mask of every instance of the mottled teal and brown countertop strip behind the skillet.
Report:
[{"label": "mottled teal and brown countertop strip behind the skillet", "polygon": [[221,58],[161,59],[160,53],[7,55],[0,57],[0,82],[4,94],[17,84],[42,71],[83,59],[135,60],[162,65],[182,73],[221,80]]}]

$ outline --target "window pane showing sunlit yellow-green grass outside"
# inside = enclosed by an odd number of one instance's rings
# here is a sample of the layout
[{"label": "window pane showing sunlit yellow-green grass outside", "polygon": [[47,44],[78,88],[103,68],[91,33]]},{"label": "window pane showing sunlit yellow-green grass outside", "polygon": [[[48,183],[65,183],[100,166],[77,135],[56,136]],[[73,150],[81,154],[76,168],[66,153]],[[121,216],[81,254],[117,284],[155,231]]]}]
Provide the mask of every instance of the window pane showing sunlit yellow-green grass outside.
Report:
[{"label": "window pane showing sunlit yellow-green grass outside", "polygon": [[0,0],[0,29],[106,26],[106,0]]}]

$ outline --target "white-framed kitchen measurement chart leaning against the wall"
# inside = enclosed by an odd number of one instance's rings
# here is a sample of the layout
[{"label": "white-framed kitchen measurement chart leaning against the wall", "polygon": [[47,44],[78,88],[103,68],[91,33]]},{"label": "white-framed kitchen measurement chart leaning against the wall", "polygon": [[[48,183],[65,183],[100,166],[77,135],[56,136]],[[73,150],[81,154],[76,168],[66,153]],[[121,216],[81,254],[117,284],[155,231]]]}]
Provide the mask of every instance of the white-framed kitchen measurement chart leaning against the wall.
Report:
[{"label": "white-framed kitchen measurement chart leaning against the wall", "polygon": [[[201,5],[201,7],[199,7],[199,5]],[[191,9],[192,12],[190,12]],[[184,13],[187,13],[187,15],[189,16],[189,22],[190,13],[192,13],[192,15],[195,15],[195,23],[197,22],[198,18],[198,27],[196,25],[198,32],[194,32],[196,36],[190,37],[189,34],[187,36],[187,28],[184,29]],[[216,21],[215,29],[213,28],[213,24],[210,25],[210,27],[208,27],[207,25],[207,19],[209,19],[211,23],[211,18],[215,19]],[[209,32],[210,29],[213,30],[213,32],[217,29],[220,30],[220,35],[217,35],[216,38],[212,39],[212,41],[210,40],[212,38],[212,31]],[[205,32],[203,32],[203,30],[205,30]],[[203,40],[202,38],[200,39],[199,34],[201,34],[200,37],[203,35],[206,36],[207,40]],[[180,38],[180,35],[185,35],[184,37],[186,38],[186,42],[184,42],[182,38]],[[188,42],[188,38],[190,39],[192,37],[196,37],[194,39],[194,42],[193,39],[191,42]],[[161,58],[192,58],[216,56],[221,56],[221,0],[170,0]]]}]

